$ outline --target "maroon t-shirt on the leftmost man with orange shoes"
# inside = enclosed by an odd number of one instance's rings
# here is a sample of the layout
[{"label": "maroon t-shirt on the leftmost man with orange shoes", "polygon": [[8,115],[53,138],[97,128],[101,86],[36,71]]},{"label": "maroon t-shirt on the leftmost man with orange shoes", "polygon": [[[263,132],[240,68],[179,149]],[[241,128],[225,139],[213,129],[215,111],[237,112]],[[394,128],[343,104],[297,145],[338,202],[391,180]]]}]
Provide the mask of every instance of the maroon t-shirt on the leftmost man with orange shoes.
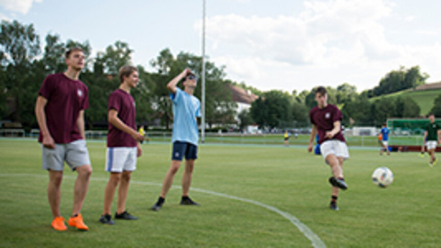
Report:
[{"label": "maroon t-shirt on the leftmost man with orange shoes", "polygon": [[[43,81],[38,95],[48,100],[45,106],[46,124],[57,144],[82,139],[77,119],[81,110],[89,108],[89,89],[80,80],[73,80],[63,73],[49,75]],[[42,142],[43,137],[38,137]]]}]

